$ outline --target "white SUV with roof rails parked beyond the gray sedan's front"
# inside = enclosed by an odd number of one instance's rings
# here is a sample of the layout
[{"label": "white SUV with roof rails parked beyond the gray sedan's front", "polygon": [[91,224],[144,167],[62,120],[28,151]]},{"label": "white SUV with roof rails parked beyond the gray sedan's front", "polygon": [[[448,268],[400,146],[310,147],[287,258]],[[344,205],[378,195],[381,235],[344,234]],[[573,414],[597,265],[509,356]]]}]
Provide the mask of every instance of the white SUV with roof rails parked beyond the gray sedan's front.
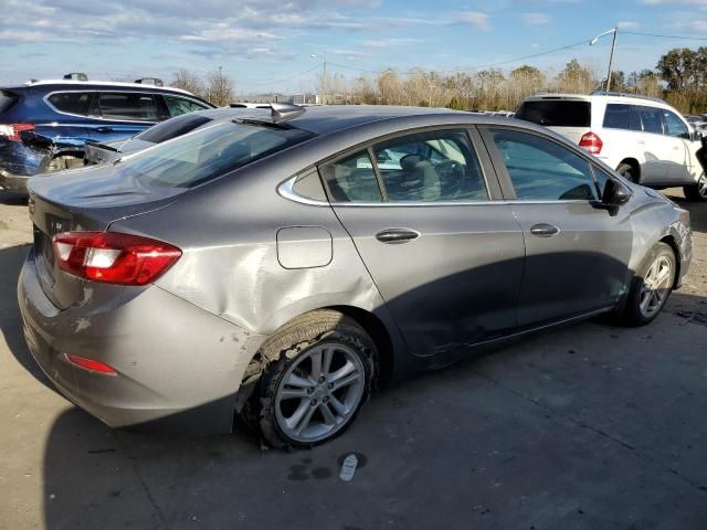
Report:
[{"label": "white SUV with roof rails parked beyond the gray sedan's front", "polygon": [[707,148],[661,99],[611,92],[538,94],[523,102],[516,118],[568,137],[634,182],[682,186],[689,200],[707,201]]}]

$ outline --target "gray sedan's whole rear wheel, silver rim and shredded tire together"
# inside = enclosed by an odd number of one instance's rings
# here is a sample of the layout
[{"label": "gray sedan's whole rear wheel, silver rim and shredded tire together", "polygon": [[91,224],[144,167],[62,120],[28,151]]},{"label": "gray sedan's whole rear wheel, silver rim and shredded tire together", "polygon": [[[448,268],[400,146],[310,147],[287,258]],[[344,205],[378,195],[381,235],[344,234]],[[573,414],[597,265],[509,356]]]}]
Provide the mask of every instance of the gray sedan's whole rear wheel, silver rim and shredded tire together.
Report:
[{"label": "gray sedan's whole rear wheel, silver rim and shredded tire together", "polygon": [[368,400],[376,347],[334,310],[304,315],[261,348],[265,363],[243,410],[274,447],[312,447],[341,434]]}]

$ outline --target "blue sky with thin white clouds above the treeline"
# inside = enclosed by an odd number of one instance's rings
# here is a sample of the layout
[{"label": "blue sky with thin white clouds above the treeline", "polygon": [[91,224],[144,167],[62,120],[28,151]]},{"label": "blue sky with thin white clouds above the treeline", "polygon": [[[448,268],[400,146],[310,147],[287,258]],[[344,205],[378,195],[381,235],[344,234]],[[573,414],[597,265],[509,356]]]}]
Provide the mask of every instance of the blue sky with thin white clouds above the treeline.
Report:
[{"label": "blue sky with thin white clouds above the treeline", "polygon": [[[86,72],[93,80],[223,66],[239,94],[317,86],[321,61],[362,71],[475,70],[589,41],[619,24],[616,67],[655,66],[707,45],[707,0],[2,0],[0,84]],[[657,39],[627,32],[701,38]],[[603,72],[610,38],[527,61],[550,73],[577,57]],[[370,75],[370,74],[369,74]]]}]

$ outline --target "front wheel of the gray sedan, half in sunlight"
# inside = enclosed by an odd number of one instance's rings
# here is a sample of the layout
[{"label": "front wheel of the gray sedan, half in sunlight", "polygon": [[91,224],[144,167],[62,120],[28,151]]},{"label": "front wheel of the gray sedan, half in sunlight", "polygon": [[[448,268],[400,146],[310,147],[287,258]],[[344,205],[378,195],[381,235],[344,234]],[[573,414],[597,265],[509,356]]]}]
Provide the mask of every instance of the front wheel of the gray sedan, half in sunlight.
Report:
[{"label": "front wheel of the gray sedan, half in sunlight", "polygon": [[623,321],[629,326],[652,322],[673,292],[676,271],[673,248],[665,243],[656,243],[633,278]]}]

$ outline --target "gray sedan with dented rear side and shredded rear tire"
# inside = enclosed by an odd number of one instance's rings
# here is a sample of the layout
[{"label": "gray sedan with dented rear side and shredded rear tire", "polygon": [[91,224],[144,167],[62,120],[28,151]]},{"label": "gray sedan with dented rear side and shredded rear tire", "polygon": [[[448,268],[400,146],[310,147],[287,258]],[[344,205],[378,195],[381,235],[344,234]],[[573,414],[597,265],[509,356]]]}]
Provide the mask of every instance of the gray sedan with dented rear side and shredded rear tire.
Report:
[{"label": "gray sedan with dented rear side and shredded rear tire", "polygon": [[30,182],[27,342],[108,425],[239,414],[316,445],[414,372],[600,314],[646,325],[687,272],[688,213],[544,128],[273,107]]}]

